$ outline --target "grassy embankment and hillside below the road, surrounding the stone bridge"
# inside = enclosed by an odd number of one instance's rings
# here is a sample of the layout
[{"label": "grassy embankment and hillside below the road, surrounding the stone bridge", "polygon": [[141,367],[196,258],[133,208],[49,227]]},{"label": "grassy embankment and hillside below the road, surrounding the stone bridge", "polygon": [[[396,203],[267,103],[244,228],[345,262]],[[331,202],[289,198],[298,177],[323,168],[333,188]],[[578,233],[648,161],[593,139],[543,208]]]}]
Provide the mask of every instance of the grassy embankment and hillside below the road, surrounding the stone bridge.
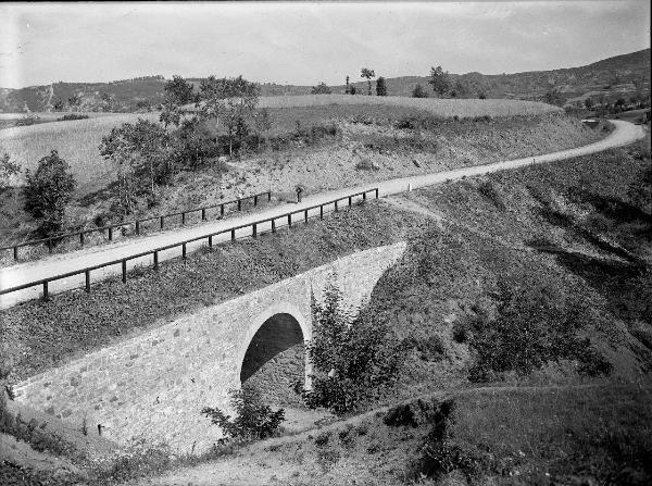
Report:
[{"label": "grassy embankment and hillside below the road, surrounding the stone bridge", "polygon": [[[636,196],[644,186],[632,188],[651,163],[648,139],[443,184],[139,271],[126,285],[26,302],[0,313],[2,357],[13,379],[25,377],[355,249],[406,239],[368,306],[410,347],[396,385],[360,409],[393,411],[261,443],[170,481],[648,484],[652,216]],[[269,361],[258,377],[293,364]],[[432,397],[453,389],[468,390]],[[266,390],[269,401],[284,394]]]}]

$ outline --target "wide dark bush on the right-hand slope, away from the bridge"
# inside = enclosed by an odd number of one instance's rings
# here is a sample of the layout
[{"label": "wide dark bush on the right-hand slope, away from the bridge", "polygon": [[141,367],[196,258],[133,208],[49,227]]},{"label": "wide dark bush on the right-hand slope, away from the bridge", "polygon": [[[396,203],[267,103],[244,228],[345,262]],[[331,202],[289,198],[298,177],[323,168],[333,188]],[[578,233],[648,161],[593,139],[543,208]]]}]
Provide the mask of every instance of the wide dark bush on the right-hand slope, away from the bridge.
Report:
[{"label": "wide dark bush on the right-hand slope, away from the bridge", "polygon": [[580,372],[609,374],[611,364],[588,339],[577,336],[590,323],[590,311],[536,276],[499,283],[499,315],[475,321],[471,345],[478,356],[469,371],[473,382],[489,382],[498,373],[525,375],[550,361],[577,360]]}]

